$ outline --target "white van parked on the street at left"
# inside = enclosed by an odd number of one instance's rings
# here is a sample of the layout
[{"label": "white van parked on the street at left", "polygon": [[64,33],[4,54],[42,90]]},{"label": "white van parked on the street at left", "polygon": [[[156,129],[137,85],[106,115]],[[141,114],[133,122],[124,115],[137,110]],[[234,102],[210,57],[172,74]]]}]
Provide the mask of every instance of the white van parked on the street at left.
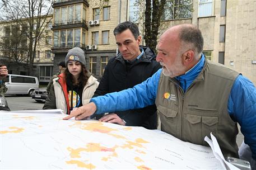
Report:
[{"label": "white van parked on the street at left", "polygon": [[8,74],[7,80],[5,82],[8,88],[6,95],[29,95],[35,89],[39,88],[39,81],[37,77],[27,76],[27,75],[16,75]]}]

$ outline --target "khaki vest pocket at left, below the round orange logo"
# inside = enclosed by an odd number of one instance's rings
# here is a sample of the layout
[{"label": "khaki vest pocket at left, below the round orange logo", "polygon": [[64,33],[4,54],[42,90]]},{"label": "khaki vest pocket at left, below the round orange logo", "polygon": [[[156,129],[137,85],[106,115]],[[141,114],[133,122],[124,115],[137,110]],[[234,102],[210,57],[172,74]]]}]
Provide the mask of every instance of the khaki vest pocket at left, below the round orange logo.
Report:
[{"label": "khaki vest pocket at left, below the round orange logo", "polygon": [[181,118],[177,116],[178,111],[159,105],[157,114],[159,114],[161,120],[161,130],[180,138]]}]

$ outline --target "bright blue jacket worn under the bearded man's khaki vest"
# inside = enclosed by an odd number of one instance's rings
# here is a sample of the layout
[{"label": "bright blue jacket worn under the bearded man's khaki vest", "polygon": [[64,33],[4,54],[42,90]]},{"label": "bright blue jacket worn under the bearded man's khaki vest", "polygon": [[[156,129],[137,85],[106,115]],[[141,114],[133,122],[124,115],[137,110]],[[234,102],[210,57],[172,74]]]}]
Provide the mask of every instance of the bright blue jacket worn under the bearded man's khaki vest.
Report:
[{"label": "bright blue jacket worn under the bearded man's khaki vest", "polygon": [[[188,72],[176,77],[184,92],[201,72],[204,56]],[[132,108],[141,108],[155,103],[157,88],[162,69],[159,69],[146,81],[120,92],[109,93],[105,96],[92,98],[97,106],[95,114],[103,112],[123,111]],[[253,159],[256,160],[256,89],[254,84],[243,75],[238,75],[229,96],[227,106],[230,117],[241,126],[244,141],[250,146]]]}]

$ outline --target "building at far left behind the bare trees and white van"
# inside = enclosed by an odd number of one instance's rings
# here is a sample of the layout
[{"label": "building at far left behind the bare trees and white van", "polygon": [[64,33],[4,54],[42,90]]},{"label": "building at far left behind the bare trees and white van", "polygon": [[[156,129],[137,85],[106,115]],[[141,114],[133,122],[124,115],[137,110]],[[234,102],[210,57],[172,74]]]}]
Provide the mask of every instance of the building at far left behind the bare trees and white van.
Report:
[{"label": "building at far left behind the bare trees and white van", "polygon": [[[54,54],[50,53],[52,45],[52,22],[50,20],[53,15],[45,17],[45,29],[36,46],[34,72],[31,74],[38,77],[39,82],[49,82],[53,75]],[[28,29],[27,18],[0,22],[0,28],[1,64],[7,65],[9,74],[27,75],[26,60],[29,45],[29,39],[25,35]]]}]

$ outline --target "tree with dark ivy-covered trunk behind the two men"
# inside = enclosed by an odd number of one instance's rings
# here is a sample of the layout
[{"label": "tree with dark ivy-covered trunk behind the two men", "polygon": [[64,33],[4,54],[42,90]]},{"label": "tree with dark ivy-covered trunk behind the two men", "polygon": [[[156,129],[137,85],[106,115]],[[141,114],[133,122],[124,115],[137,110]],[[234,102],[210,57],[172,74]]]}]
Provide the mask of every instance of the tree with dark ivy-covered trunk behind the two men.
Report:
[{"label": "tree with dark ivy-covered trunk behind the two men", "polygon": [[[145,6],[143,6],[143,3]],[[174,20],[191,17],[192,0],[136,0],[136,6],[144,12],[138,15],[138,20],[144,21],[145,43],[152,50],[156,50],[157,37],[161,20]]]}]

